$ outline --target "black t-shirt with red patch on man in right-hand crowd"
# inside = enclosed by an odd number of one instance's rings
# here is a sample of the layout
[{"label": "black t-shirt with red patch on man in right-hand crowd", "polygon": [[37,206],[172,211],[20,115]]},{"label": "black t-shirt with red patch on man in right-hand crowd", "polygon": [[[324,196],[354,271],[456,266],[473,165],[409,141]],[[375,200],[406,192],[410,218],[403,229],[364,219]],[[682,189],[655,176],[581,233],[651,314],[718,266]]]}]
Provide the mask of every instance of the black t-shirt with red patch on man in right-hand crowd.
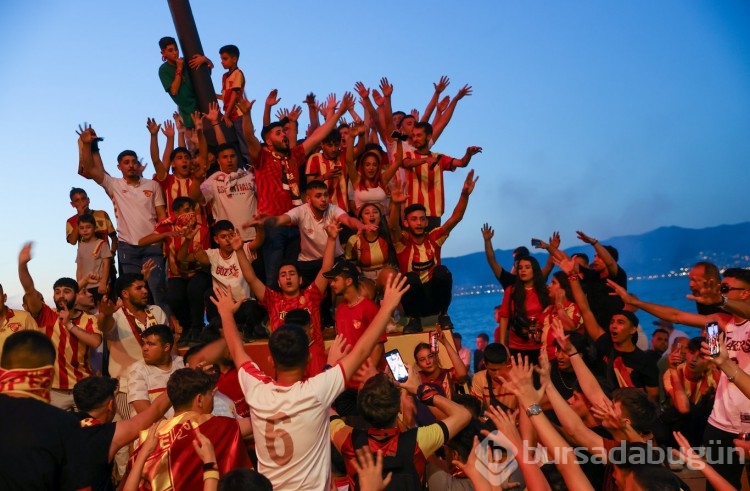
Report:
[{"label": "black t-shirt with red patch on man in right-hand crowd", "polygon": [[[659,369],[646,352],[637,347],[629,352],[617,351],[612,344],[612,336],[608,333],[599,336],[594,344],[598,358],[603,362],[603,375],[611,389],[618,387],[645,389],[659,386]],[[619,372],[621,378],[629,380],[630,384],[619,383],[616,372]]]}]

